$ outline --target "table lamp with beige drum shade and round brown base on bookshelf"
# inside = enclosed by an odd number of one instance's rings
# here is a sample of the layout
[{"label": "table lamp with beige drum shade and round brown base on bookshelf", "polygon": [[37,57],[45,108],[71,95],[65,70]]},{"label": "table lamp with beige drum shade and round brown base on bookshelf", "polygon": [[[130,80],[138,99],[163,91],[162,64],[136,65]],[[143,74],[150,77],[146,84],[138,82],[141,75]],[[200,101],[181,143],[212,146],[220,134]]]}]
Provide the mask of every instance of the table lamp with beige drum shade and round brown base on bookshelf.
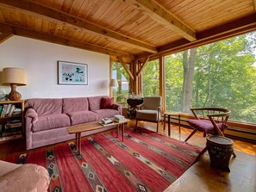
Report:
[{"label": "table lamp with beige drum shade and round brown base on bookshelf", "polygon": [[15,67],[3,68],[2,84],[10,85],[10,93],[7,96],[10,101],[18,101],[22,98],[22,95],[16,91],[17,86],[23,86],[27,84],[26,71]]}]

